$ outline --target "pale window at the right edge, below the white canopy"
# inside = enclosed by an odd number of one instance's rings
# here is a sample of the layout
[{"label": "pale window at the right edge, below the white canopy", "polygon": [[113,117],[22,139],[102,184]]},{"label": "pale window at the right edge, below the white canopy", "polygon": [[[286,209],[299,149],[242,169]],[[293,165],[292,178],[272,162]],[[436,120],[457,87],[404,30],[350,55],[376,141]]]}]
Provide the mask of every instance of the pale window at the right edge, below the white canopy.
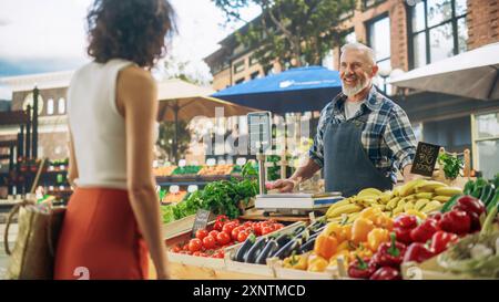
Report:
[{"label": "pale window at the right edge, below the white canopy", "polygon": [[473,167],[487,179],[499,171],[499,112],[472,115]]}]

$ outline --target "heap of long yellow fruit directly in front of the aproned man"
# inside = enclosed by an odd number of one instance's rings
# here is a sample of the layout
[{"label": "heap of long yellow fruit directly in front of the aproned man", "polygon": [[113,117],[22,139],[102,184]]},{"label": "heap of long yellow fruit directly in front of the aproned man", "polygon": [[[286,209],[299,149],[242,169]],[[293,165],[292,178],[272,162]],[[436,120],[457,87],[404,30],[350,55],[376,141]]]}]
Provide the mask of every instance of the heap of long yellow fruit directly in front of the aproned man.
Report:
[{"label": "heap of long yellow fruit directly in front of the aproned man", "polygon": [[462,194],[462,190],[435,180],[416,179],[395,187],[393,191],[364,189],[356,196],[332,205],[326,217],[329,221],[348,223],[353,222],[363,209],[369,207],[378,207],[388,217],[404,212],[425,216],[440,210],[444,204],[457,194]]}]

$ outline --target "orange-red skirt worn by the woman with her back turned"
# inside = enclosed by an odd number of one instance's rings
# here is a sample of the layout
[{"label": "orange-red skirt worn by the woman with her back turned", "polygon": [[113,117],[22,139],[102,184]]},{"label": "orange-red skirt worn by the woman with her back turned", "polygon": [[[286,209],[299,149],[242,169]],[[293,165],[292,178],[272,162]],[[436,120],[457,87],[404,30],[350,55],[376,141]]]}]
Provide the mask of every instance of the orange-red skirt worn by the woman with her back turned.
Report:
[{"label": "orange-red skirt worn by the woman with her back turned", "polygon": [[147,279],[147,248],[126,190],[77,188],[58,242],[54,279]]}]

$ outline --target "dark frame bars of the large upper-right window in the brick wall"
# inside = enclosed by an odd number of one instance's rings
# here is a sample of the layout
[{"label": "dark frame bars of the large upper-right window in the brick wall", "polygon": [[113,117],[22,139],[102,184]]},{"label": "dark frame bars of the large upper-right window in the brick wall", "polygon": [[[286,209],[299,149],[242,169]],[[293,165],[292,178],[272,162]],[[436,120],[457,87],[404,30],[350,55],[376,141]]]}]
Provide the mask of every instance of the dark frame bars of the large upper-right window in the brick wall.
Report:
[{"label": "dark frame bars of the large upper-right window in the brick wall", "polygon": [[[434,29],[436,29],[436,28],[439,28],[439,27],[442,27],[442,25],[446,25],[446,24],[451,24],[451,28],[452,28],[452,54],[454,55],[457,55],[457,54],[459,54],[459,35],[458,35],[458,21],[459,20],[461,20],[461,19],[467,19],[467,17],[468,17],[468,7],[467,7],[467,10],[466,10],[466,12],[465,13],[462,13],[462,14],[459,14],[459,15],[456,15],[456,0],[450,0],[450,6],[451,6],[451,8],[452,8],[452,15],[450,17],[450,19],[448,19],[448,20],[445,20],[445,21],[441,21],[441,22],[439,22],[439,23],[437,23],[437,24],[434,24],[434,25],[431,25],[431,27],[428,27],[428,0],[420,0],[420,3],[422,3],[424,4],[424,18],[425,18],[425,28],[422,29],[422,30],[419,30],[419,31],[414,31],[414,28],[413,28],[413,18],[414,18],[414,10],[416,9],[416,6],[408,6],[407,3],[406,3],[406,14],[408,15],[408,20],[407,20],[407,39],[408,39],[408,41],[407,41],[407,43],[408,43],[408,45],[409,45],[409,70],[414,70],[416,66],[415,66],[415,58],[414,58],[414,55],[415,55],[415,43],[414,43],[414,39],[415,39],[415,37],[416,35],[418,35],[418,34],[421,34],[421,33],[424,33],[425,34],[425,60],[426,60],[426,63],[425,63],[425,65],[428,65],[428,64],[431,64],[431,45],[430,45],[430,31],[431,30],[434,30]],[[419,4],[419,3],[418,3]],[[421,66],[425,66],[425,65],[421,65]],[[418,67],[421,67],[421,66],[418,66]]]}]

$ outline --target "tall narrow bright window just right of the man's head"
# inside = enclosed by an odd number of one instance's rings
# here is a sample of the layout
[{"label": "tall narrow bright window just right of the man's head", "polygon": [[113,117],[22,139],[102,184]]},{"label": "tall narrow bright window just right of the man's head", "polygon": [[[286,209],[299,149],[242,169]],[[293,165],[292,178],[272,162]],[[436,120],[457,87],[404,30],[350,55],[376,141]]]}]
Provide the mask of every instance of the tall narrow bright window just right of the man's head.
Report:
[{"label": "tall narrow bright window just right of the man's head", "polygon": [[[385,85],[385,81],[389,80],[389,73],[391,71],[390,63],[390,19],[388,15],[381,15],[367,25],[368,31],[368,44],[375,51],[376,63],[379,66],[378,76],[376,83],[380,88],[388,93],[391,87]],[[383,76],[385,77],[383,77]]]}]

